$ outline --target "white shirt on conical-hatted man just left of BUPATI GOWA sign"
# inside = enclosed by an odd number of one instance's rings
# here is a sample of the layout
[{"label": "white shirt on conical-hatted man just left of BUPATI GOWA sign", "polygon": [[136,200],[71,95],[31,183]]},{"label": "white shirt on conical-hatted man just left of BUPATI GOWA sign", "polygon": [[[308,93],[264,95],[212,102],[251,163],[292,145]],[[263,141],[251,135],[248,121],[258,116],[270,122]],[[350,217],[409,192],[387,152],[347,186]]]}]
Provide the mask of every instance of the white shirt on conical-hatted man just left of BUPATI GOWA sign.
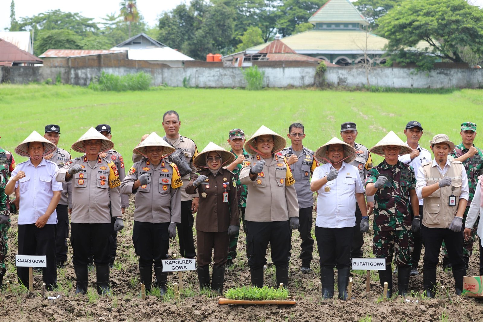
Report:
[{"label": "white shirt on conical-hatted man just left of BUPATI GOWA sign", "polygon": [[[327,176],[333,168],[330,163],[318,166],[313,172],[312,181]],[[355,193],[364,191],[359,170],[342,161],[338,176],[318,190],[315,225],[324,228],[354,227]]]}]

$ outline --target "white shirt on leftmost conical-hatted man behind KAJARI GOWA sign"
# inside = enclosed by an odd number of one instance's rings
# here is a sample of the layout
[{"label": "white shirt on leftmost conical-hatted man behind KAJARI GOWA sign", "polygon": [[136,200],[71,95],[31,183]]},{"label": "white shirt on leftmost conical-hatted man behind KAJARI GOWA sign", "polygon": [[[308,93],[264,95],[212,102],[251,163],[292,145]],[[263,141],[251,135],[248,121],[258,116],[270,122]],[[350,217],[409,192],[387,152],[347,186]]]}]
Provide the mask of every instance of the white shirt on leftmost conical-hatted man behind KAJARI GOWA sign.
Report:
[{"label": "white shirt on leftmost conical-hatted man behind KAJARI GOWA sign", "polygon": [[[49,207],[54,197],[54,191],[62,191],[62,184],[57,182],[55,175],[57,164],[44,160],[34,167],[30,159],[17,164],[12,177],[19,171],[25,172],[25,177],[15,182],[15,188],[20,186],[20,207],[18,212],[18,224],[28,225],[35,223]],[[12,180],[12,177],[10,180]],[[47,224],[57,223],[57,212],[50,215]]]}]

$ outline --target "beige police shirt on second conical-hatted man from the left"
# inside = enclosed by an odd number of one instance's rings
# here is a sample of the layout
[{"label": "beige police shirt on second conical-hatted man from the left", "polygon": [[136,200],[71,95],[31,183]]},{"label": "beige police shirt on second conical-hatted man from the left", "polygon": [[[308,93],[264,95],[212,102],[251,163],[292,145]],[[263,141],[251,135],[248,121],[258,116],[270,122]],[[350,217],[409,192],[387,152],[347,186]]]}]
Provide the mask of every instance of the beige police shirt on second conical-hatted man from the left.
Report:
[{"label": "beige police shirt on second conical-hatted man from the left", "polygon": [[[65,175],[73,164],[80,164],[82,170],[66,180]],[[111,171],[114,173],[111,174]],[[85,155],[66,162],[62,169],[57,170],[58,182],[72,182],[71,222],[109,223],[109,203],[112,217],[122,216],[121,189],[119,186],[109,188],[110,175],[119,181],[117,169],[114,171],[105,159],[98,158],[94,167],[91,167]]]}]

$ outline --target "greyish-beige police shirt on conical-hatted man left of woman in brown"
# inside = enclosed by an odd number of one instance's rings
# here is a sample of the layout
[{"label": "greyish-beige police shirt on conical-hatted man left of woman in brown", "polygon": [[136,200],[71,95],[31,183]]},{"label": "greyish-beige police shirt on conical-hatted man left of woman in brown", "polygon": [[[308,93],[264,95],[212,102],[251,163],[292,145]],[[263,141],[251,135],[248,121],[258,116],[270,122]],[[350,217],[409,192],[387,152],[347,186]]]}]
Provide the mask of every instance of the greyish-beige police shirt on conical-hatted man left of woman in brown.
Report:
[{"label": "greyish-beige police shirt on conical-hatted man left of woman in brown", "polygon": [[[181,187],[180,176],[177,175],[174,163],[161,161],[157,166],[143,158],[134,163],[128,175],[121,183],[121,193],[134,193],[134,220],[142,222],[181,222]],[[132,190],[134,182],[139,176],[147,173],[147,185]],[[174,176],[173,176],[174,174]],[[178,180],[177,182],[175,182]],[[174,188],[176,187],[176,188]]]}]

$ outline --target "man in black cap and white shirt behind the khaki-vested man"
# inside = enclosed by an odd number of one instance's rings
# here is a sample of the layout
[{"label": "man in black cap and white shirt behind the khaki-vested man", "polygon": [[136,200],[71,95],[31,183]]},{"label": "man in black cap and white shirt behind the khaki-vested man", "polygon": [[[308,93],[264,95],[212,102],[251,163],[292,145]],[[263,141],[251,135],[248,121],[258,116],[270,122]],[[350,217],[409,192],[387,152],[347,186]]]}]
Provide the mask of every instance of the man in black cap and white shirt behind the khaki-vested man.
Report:
[{"label": "man in black cap and white shirt behind the khaki-vested man", "polygon": [[[419,139],[423,135],[423,127],[418,121],[410,121],[406,124],[404,129],[406,135],[406,144],[412,148],[410,154],[403,154],[398,157],[399,161],[409,164],[414,169],[414,173],[418,173],[421,165],[431,162],[431,152],[419,145]],[[420,221],[423,221],[423,199],[419,199],[419,216]],[[414,214],[411,214],[411,220]],[[411,252],[411,276],[419,275],[418,263],[421,258],[421,249],[423,248],[423,235],[421,230],[412,233],[414,242],[414,249]]]}]

